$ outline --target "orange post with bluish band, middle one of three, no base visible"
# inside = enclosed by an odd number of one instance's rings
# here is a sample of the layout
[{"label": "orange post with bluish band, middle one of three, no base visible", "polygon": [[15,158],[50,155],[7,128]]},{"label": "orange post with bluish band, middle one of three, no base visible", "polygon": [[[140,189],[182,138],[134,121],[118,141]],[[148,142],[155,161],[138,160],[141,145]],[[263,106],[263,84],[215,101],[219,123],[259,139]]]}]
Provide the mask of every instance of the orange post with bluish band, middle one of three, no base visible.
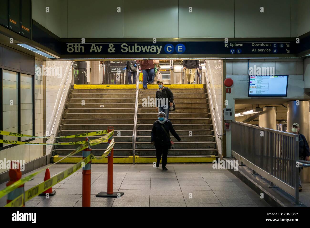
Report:
[{"label": "orange post with bluish band, middle one of three, no base visible", "polygon": [[[88,137],[86,137],[86,142]],[[83,150],[83,159],[91,154],[91,148],[88,144],[88,148]],[[85,164],[82,171],[82,207],[91,206],[91,161]]]}]

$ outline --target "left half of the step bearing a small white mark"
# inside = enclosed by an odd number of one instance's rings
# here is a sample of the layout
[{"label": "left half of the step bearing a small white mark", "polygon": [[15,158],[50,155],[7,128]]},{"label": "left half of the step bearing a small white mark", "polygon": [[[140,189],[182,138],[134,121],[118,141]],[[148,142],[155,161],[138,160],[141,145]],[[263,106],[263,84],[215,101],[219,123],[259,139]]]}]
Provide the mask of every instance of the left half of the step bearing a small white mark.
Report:
[{"label": "left half of the step bearing a small white mark", "polygon": [[135,108],[135,103],[84,103],[82,105],[81,103],[69,103],[66,104],[66,109],[79,109],[79,108],[84,108],[84,109],[114,109],[117,107],[121,108]]}]

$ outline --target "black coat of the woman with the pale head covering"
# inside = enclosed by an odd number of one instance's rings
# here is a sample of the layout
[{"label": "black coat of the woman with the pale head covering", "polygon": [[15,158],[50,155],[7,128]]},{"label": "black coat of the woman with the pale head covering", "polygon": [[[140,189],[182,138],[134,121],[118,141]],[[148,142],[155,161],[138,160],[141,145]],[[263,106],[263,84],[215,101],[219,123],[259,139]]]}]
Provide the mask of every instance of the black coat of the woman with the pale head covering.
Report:
[{"label": "black coat of the woman with the pale head covering", "polygon": [[[180,136],[173,129],[172,123],[169,120],[166,120],[165,123],[161,124],[159,121],[155,121],[153,124],[151,132],[151,142],[154,142],[155,145],[170,145],[170,137],[167,136],[165,131],[162,129],[161,125],[166,129],[166,132],[169,134],[169,131],[178,141],[181,141]],[[169,134],[170,135],[170,134]]]}]

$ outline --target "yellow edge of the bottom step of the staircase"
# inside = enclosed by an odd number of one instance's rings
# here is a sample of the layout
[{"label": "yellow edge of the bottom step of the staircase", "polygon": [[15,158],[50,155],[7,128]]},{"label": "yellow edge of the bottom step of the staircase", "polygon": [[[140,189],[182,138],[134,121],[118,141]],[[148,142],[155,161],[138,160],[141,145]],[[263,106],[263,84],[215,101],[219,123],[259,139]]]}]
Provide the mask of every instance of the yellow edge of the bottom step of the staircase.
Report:
[{"label": "yellow edge of the bottom step of the staircase", "polygon": [[[168,157],[167,163],[209,163],[213,162],[215,155],[211,155],[211,157]],[[53,162],[57,162],[62,157],[55,155],[52,157]],[[82,157],[68,157],[59,163],[78,163],[82,160]],[[148,157],[139,157],[135,156],[135,163],[153,163],[156,161],[156,158],[148,158]],[[92,159],[92,163],[108,163],[108,159]],[[123,157],[123,158],[113,158],[113,163],[133,163],[133,156]]]}]

